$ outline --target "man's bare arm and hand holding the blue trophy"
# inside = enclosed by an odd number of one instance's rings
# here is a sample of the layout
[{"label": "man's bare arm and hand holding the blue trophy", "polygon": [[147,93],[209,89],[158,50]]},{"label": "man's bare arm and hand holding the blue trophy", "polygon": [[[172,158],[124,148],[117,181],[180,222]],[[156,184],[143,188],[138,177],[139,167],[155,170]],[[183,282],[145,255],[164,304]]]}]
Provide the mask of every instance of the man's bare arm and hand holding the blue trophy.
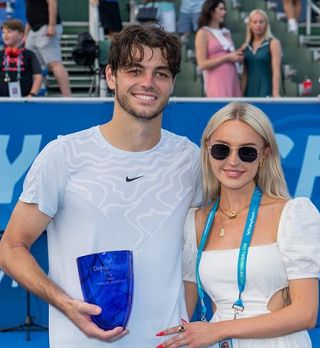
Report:
[{"label": "man's bare arm and hand holding the blue trophy", "polygon": [[108,341],[126,334],[120,327],[104,331],[96,326],[90,315],[100,314],[101,308],[72,299],[40,268],[30,253],[30,248],[50,220],[49,216],[38,209],[37,204],[19,201],[1,239],[0,268],[28,291],[58,308],[88,337]]}]

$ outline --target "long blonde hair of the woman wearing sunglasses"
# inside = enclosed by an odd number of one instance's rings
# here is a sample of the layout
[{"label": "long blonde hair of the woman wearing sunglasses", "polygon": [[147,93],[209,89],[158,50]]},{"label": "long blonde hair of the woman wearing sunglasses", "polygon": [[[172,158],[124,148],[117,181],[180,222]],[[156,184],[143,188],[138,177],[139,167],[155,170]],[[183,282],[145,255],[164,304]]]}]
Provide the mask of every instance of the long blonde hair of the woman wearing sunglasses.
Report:
[{"label": "long blonde hair of the woman wearing sunglasses", "polygon": [[220,194],[220,182],[214,176],[207,151],[211,134],[224,122],[239,120],[255,130],[269,147],[269,153],[259,167],[255,177],[256,184],[263,193],[273,198],[288,199],[290,197],[282,166],[279,150],[271,122],[267,115],[248,103],[229,103],[218,110],[209,120],[201,139],[201,166],[203,204],[208,205]]}]

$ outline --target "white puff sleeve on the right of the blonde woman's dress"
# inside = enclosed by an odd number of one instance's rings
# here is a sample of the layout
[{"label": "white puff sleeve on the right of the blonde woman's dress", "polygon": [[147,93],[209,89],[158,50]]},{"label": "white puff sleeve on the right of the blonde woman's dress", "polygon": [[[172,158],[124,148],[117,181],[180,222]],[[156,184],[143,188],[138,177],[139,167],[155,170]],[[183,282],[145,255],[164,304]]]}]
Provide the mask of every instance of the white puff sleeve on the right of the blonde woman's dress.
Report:
[{"label": "white puff sleeve on the right of the blonde woman's dress", "polygon": [[288,280],[318,278],[320,272],[320,214],[308,198],[287,202],[278,243]]}]

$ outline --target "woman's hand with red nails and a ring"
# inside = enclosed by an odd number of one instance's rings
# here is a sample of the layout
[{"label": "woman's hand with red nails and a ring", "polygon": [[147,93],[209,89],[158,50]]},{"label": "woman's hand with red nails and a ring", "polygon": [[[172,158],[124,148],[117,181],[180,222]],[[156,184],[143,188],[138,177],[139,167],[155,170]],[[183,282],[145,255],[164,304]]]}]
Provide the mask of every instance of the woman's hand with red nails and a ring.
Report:
[{"label": "woman's hand with red nails and a ring", "polygon": [[174,335],[157,348],[176,348],[187,346],[188,348],[205,348],[219,341],[217,333],[214,334],[214,323],[196,321],[175,326],[161,331],[157,336]]}]

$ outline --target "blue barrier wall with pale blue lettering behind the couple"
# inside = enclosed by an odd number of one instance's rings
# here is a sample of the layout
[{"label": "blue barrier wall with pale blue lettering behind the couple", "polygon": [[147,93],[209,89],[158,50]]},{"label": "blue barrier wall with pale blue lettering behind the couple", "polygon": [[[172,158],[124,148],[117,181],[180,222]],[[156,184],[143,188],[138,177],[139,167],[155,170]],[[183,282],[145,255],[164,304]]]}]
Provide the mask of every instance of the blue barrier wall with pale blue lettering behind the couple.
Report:
[{"label": "blue barrier wall with pale blue lettering behind the couple", "polygon": [[[307,196],[320,208],[320,101],[299,99],[252,101],[270,117],[279,144],[282,164],[293,196]],[[199,144],[212,114],[226,101],[172,99],[163,126]],[[25,173],[39,151],[59,134],[102,124],[112,115],[112,99],[0,103],[0,230],[4,230],[22,190]],[[46,269],[45,236],[33,248]],[[21,322],[24,291],[0,270],[0,327]],[[5,299],[5,300],[4,300]],[[33,314],[47,320],[46,306],[32,302]],[[5,313],[3,315],[2,313]]]}]

